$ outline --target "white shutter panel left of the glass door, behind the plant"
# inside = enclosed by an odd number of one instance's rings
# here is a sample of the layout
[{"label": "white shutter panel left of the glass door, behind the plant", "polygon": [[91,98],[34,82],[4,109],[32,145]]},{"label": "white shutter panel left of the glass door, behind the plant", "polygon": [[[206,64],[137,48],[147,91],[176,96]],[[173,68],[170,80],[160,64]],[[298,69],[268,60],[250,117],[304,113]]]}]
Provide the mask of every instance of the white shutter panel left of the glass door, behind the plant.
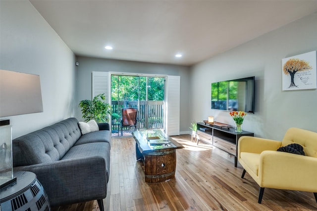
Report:
[{"label": "white shutter panel left of the glass door, behind the plant", "polygon": [[106,103],[109,102],[108,84],[109,72],[93,72],[92,77],[92,98],[96,95],[105,93]]}]

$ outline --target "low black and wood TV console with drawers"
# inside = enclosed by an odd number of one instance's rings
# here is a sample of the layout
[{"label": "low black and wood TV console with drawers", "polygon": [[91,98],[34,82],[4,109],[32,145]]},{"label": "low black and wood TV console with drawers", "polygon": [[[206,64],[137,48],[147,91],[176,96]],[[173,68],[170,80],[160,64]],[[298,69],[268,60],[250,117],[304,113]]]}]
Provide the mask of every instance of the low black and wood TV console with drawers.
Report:
[{"label": "low black and wood TV console with drawers", "polygon": [[[221,124],[221,123],[220,123]],[[241,136],[254,136],[254,133],[235,132],[234,128],[219,126],[219,124],[197,123],[197,145],[199,141],[211,144],[234,156],[234,166],[238,164],[238,140]]]}]

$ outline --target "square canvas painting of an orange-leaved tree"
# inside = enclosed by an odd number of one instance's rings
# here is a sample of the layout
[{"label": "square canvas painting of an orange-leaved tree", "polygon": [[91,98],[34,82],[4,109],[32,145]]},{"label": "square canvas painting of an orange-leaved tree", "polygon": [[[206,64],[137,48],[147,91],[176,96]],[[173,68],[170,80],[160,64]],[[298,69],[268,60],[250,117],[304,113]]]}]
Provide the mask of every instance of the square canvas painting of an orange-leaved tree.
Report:
[{"label": "square canvas painting of an orange-leaved tree", "polygon": [[282,59],[282,90],[317,89],[316,51]]}]

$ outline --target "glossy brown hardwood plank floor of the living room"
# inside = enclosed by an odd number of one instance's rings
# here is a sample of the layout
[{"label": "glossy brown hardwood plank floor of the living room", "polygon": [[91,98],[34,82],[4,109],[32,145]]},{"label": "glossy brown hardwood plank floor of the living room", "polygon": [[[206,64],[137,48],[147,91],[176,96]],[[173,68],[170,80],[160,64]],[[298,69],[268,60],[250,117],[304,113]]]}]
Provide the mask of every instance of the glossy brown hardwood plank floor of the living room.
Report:
[{"label": "glossy brown hardwood plank floor of the living room", "polygon": [[[143,164],[135,159],[135,141],[113,138],[106,211],[308,211],[317,210],[313,193],[266,188],[258,204],[259,186],[234,158],[211,145],[191,142],[190,135],[173,136],[177,150],[175,178],[146,183]],[[52,211],[99,211],[97,201]]]}]

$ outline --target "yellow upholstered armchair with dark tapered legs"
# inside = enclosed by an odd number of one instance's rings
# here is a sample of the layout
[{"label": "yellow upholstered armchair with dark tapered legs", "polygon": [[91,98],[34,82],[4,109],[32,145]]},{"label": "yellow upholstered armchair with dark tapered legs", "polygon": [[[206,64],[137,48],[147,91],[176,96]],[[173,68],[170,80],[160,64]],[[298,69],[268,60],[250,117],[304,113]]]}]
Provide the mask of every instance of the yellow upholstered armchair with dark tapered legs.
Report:
[{"label": "yellow upholstered armchair with dark tapered legs", "polygon": [[[289,144],[300,144],[305,156],[276,151]],[[243,136],[238,142],[238,161],[260,186],[261,204],[264,188],[313,192],[317,202],[317,133],[290,128],[283,140],[275,141]]]}]

